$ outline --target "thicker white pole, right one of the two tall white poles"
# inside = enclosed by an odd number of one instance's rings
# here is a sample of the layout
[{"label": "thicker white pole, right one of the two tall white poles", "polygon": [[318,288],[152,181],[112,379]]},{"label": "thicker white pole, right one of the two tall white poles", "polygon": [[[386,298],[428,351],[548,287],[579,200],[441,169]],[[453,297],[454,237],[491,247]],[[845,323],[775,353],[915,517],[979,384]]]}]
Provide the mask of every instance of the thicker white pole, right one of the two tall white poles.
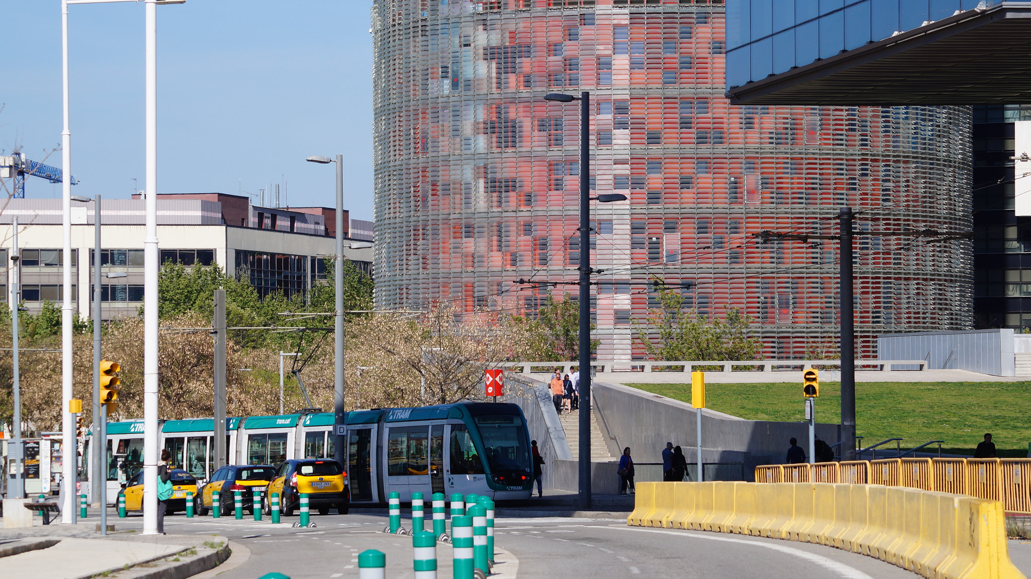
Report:
[{"label": "thicker white pole, right one of the two tall white poles", "polygon": [[143,535],[158,533],[158,4],[146,0],[146,238],[143,240]]}]

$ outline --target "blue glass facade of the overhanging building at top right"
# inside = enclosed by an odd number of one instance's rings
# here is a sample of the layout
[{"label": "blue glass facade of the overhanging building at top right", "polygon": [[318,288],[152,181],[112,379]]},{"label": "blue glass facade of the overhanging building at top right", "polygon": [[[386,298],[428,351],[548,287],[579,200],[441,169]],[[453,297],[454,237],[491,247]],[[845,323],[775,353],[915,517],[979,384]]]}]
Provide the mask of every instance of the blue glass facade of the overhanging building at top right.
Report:
[{"label": "blue glass facade of the overhanging building at top right", "polygon": [[727,0],[727,87],[999,0]]}]

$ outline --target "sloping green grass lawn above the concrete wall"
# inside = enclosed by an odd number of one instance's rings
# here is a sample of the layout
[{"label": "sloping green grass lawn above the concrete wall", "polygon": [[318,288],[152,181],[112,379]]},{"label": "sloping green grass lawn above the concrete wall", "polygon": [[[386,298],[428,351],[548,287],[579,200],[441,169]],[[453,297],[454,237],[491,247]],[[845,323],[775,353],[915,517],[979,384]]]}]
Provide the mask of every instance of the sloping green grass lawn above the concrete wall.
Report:
[{"label": "sloping green grass lawn above the concrete wall", "polygon": [[[627,385],[691,403],[691,384]],[[705,402],[753,420],[804,419],[801,383],[710,383]],[[840,383],[821,382],[817,421],[837,423],[840,417]],[[856,430],[865,437],[863,446],[895,437],[904,439],[903,449],[943,440],[942,452],[956,454],[973,454],[992,433],[1000,457],[1024,457],[1031,442],[1031,382],[857,383]]]}]

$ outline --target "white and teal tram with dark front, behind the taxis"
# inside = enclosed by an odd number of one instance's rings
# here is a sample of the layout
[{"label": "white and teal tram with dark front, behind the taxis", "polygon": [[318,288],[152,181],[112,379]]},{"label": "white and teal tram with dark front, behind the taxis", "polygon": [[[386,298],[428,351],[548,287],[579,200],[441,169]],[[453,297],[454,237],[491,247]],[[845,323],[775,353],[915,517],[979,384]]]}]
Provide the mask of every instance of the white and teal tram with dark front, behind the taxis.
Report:
[{"label": "white and teal tram with dark front, behind the taxis", "polygon": [[[217,470],[213,429],[212,418],[162,421],[169,466],[207,480]],[[227,418],[227,461],[278,466],[289,458],[332,458],[332,412]],[[514,404],[358,410],[347,413],[344,436],[353,504],[386,504],[391,492],[400,493],[402,502],[412,492],[530,498],[530,435]],[[84,457],[90,455],[87,440]],[[142,420],[109,423],[106,446],[107,498],[113,504],[122,484],[143,467]]]}]

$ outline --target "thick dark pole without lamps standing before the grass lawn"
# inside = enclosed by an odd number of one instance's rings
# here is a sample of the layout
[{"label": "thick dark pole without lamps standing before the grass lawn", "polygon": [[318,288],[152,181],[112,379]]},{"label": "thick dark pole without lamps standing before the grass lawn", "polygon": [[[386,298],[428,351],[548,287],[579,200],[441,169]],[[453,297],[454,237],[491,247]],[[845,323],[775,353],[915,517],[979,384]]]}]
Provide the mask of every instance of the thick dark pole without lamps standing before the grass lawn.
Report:
[{"label": "thick dark pole without lamps standing before the grass lawn", "polygon": [[856,459],[856,344],[853,317],[852,207],[838,212],[840,227],[839,295],[841,299],[841,459]]}]

